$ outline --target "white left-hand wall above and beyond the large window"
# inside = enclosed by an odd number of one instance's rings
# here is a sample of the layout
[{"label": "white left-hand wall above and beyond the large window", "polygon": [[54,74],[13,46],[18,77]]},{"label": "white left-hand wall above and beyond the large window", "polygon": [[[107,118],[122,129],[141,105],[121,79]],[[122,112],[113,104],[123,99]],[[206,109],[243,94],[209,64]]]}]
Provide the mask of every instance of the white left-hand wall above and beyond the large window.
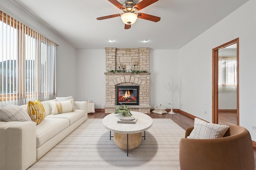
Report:
[{"label": "white left-hand wall above and beyond the large window", "polygon": [[[76,91],[76,84],[74,83],[76,80],[76,70],[74,69],[76,68],[76,50],[74,47],[39,23],[35,18],[28,15],[10,0],[1,0],[0,10],[59,45],[57,50],[57,96],[74,96]],[[76,100],[76,96],[74,96],[74,99]]]}]

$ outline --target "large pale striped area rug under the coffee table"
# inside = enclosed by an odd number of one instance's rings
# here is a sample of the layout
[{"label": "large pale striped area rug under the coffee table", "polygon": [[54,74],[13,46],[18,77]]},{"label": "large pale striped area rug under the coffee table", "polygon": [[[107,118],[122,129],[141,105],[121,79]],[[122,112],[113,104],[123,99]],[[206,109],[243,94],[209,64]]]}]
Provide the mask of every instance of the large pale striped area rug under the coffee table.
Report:
[{"label": "large pale striped area rug under the coffee table", "polygon": [[127,156],[110,140],[102,119],[88,119],[29,170],[179,170],[184,134],[171,119],[153,119],[146,140]]}]

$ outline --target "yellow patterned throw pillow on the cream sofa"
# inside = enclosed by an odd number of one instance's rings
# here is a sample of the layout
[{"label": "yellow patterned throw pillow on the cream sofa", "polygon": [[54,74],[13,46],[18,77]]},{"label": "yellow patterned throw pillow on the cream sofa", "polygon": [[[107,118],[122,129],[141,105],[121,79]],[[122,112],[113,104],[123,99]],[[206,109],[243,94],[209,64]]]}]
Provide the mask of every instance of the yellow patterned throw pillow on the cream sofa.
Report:
[{"label": "yellow patterned throw pillow on the cream sofa", "polygon": [[32,121],[36,122],[36,125],[41,123],[45,117],[44,106],[39,100],[35,100],[34,102],[28,102],[28,114]]}]

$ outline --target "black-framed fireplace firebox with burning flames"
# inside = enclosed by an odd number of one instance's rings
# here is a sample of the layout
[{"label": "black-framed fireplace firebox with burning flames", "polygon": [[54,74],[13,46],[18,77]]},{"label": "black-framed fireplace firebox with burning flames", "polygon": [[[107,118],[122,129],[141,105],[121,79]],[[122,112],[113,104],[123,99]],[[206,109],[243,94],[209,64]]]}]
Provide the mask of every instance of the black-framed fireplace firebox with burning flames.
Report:
[{"label": "black-framed fireplace firebox with burning flames", "polygon": [[116,105],[139,105],[139,86],[116,86]]}]

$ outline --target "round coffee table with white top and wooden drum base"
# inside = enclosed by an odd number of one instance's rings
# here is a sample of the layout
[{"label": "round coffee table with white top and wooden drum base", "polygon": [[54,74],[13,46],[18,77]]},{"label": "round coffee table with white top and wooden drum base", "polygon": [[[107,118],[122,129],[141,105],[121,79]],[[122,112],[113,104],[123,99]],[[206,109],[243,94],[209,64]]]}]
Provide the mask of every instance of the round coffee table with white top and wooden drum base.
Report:
[{"label": "round coffee table with white top and wooden drum base", "polygon": [[142,132],[144,132],[144,139],[146,139],[145,131],[153,124],[150,116],[136,111],[131,111],[131,113],[132,117],[138,119],[135,124],[117,123],[120,120],[120,116],[114,113],[105,116],[102,120],[104,127],[110,131],[110,140],[111,131],[113,131],[114,143],[121,149],[127,149],[127,156],[129,149],[134,149],[140,145]]}]

